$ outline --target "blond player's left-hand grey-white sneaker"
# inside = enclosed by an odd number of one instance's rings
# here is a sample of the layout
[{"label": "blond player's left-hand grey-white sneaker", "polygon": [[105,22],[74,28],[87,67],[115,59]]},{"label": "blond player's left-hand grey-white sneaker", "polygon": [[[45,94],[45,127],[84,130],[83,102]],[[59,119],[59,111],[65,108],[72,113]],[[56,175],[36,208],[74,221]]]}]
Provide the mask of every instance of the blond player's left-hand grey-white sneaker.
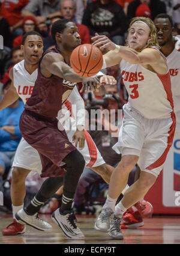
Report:
[{"label": "blond player's left-hand grey-white sneaker", "polygon": [[104,208],[101,211],[100,216],[98,216],[97,221],[95,222],[95,230],[107,232],[110,228],[110,219],[113,215],[113,211],[110,207]]}]

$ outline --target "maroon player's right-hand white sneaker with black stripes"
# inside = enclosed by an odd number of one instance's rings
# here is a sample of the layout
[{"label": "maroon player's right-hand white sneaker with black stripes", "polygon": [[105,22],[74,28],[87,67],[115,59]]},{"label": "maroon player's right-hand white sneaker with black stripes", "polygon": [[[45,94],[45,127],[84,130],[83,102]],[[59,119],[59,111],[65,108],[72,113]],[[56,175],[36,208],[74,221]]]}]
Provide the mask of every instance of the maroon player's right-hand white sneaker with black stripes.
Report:
[{"label": "maroon player's right-hand white sneaker with black stripes", "polygon": [[63,214],[59,212],[59,209],[57,209],[52,214],[53,221],[56,222],[56,224],[59,225],[62,232],[65,234],[66,237],[73,240],[84,240],[85,236],[83,235],[82,231],[77,227],[76,222],[76,216],[72,211]]}]

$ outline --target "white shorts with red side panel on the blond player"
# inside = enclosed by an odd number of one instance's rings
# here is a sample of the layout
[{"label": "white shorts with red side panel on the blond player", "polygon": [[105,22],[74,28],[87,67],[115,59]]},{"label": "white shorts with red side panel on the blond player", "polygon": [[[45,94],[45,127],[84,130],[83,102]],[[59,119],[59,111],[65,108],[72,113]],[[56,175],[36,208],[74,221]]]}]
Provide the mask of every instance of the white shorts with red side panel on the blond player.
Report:
[{"label": "white shorts with red side panel on the blond player", "polygon": [[157,177],[163,169],[172,145],[175,127],[176,118],[173,112],[171,118],[148,119],[125,105],[118,142],[113,149],[122,156],[127,154],[139,156],[137,164],[141,171]]}]

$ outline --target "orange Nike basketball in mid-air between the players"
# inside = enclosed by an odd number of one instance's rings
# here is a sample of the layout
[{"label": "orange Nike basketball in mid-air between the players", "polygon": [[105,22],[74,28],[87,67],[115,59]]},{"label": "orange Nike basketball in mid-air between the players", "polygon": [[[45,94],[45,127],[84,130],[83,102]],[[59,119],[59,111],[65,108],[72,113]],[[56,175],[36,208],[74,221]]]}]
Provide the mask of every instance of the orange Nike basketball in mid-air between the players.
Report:
[{"label": "orange Nike basketball in mid-air between the players", "polygon": [[77,75],[94,76],[103,66],[103,55],[98,47],[92,44],[81,44],[73,50],[70,63]]}]

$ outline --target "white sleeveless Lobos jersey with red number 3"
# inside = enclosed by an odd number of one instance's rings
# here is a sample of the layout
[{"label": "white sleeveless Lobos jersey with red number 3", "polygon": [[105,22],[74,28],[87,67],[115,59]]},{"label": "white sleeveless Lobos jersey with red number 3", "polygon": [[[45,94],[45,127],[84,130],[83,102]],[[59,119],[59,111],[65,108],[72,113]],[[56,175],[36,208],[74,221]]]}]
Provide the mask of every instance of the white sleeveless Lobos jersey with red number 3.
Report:
[{"label": "white sleeveless Lobos jersey with red number 3", "polygon": [[128,106],[136,109],[145,118],[169,118],[173,111],[169,72],[166,75],[157,75],[124,59],[120,67],[129,94]]}]

